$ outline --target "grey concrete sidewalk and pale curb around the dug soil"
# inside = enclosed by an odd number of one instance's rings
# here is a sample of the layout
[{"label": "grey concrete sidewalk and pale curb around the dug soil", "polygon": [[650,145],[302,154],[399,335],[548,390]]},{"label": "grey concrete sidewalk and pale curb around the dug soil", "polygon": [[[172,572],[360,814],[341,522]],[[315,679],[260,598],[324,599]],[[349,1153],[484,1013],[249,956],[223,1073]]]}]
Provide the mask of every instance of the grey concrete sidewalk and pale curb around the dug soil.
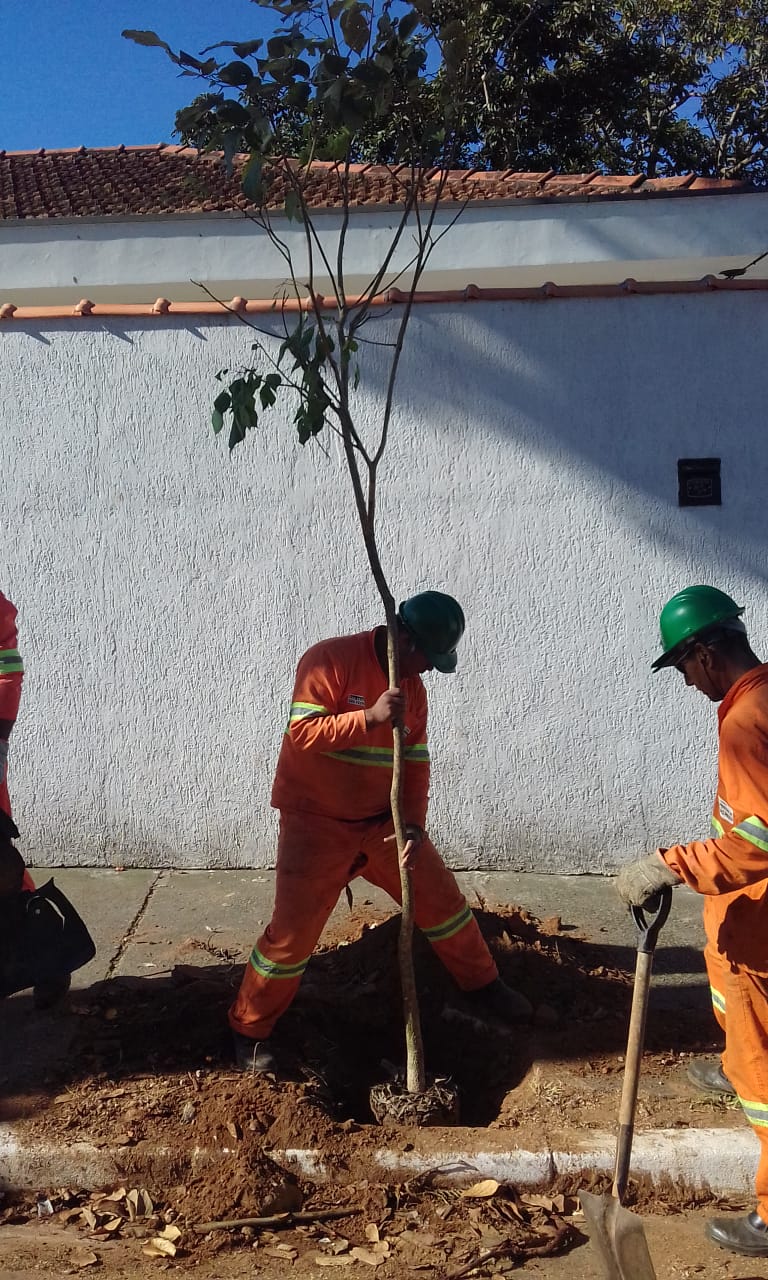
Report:
[{"label": "grey concrete sidewalk and pale curb around the dug soil", "polygon": [[[37,883],[51,876],[82,911],[93,934],[93,961],[73,975],[77,992],[114,977],[157,975],[177,964],[236,963],[250,948],[269,919],[274,873],[266,870],[33,870]],[[613,883],[604,877],[534,876],[522,873],[458,873],[474,906],[517,904],[540,919],[558,915],[566,929],[604,948],[604,963],[632,969],[635,937]],[[353,884],[356,906],[394,910],[390,900],[366,882]],[[348,908],[340,899],[334,918]],[[676,891],[673,910],[664,927],[654,964],[655,1007],[709,1010],[709,992],[701,959],[704,936],[701,904],[689,890]],[[28,1087],[44,1082],[65,1062],[77,1029],[77,1016],[35,1012],[29,993],[0,1004],[0,1105]],[[713,1038],[716,1028],[713,1023]],[[1,1116],[1,1111],[0,1111]],[[470,1138],[471,1135],[471,1138]],[[483,1176],[503,1176],[518,1183],[541,1181],[553,1172],[584,1166],[611,1169],[613,1134],[585,1135],[579,1149],[538,1152],[509,1149],[513,1134],[456,1129],[445,1148],[445,1164],[468,1161]],[[50,1143],[31,1149],[23,1125],[0,1121],[0,1185],[40,1183],[93,1185],[106,1183],[114,1167],[109,1151],[76,1149],[86,1144]],[[749,1194],[756,1165],[758,1142],[740,1112],[719,1129],[658,1130],[639,1134],[632,1166],[636,1171],[668,1174],[691,1184]],[[206,1156],[207,1158],[207,1156]],[[404,1157],[403,1157],[404,1158]],[[416,1144],[407,1156],[412,1172],[420,1169]],[[305,1171],[323,1175],[321,1152],[293,1152]],[[383,1149],[383,1170],[393,1152]],[[397,1153],[401,1161],[401,1153]],[[425,1157],[426,1160],[426,1157]],[[434,1144],[429,1156],[434,1166]],[[396,1161],[397,1162],[397,1161]]]}]

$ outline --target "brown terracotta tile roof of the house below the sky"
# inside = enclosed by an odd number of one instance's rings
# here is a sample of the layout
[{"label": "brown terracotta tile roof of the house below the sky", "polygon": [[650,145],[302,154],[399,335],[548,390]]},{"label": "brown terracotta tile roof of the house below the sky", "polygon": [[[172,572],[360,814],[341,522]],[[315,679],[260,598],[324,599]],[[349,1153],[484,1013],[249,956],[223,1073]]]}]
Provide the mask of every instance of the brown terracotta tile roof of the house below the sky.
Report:
[{"label": "brown terracotta tile roof of the house below the sky", "polygon": [[[0,221],[42,218],[125,218],[159,214],[236,212],[250,207],[239,186],[244,157],[228,177],[220,155],[192,147],[116,146],[65,151],[0,151]],[[410,182],[407,166],[351,165],[351,196],[357,206],[398,205]],[[425,170],[429,192],[438,172]],[[474,204],[520,200],[635,200],[637,196],[712,195],[749,191],[748,183],[717,178],[644,179],[632,174],[493,173],[452,170],[445,198]],[[284,204],[284,178],[276,177],[270,207]],[[317,209],[342,204],[339,168],[317,161],[307,186]]]}]

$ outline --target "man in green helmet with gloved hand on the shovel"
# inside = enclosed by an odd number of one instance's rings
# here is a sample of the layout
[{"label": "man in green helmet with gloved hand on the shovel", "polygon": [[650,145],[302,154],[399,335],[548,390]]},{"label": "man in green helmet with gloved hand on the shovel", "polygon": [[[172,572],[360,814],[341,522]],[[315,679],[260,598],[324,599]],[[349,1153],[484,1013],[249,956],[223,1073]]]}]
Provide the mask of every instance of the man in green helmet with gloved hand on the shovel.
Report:
[{"label": "man in green helmet with gloved hand on the shovel", "polygon": [[704,957],[714,1016],[724,1032],[719,1062],[696,1060],[698,1088],[739,1097],[760,1140],[756,1208],[719,1217],[707,1235],[721,1248],[768,1257],[768,664],[753,653],[740,608],[713,586],[690,586],[664,605],[664,652],[719,703],[718,781],[709,840],[657,849],[625,867],[620,897],[641,906],[664,884],[704,893]]}]

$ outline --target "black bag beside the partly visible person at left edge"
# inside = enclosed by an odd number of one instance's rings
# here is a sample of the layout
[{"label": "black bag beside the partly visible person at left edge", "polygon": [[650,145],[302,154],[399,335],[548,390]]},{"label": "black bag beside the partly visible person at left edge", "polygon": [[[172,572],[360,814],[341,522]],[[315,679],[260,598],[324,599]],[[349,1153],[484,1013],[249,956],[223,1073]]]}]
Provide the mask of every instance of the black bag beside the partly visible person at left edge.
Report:
[{"label": "black bag beside the partly visible person at left edge", "polygon": [[0,900],[0,998],[73,973],[95,955],[83,920],[52,879]]}]

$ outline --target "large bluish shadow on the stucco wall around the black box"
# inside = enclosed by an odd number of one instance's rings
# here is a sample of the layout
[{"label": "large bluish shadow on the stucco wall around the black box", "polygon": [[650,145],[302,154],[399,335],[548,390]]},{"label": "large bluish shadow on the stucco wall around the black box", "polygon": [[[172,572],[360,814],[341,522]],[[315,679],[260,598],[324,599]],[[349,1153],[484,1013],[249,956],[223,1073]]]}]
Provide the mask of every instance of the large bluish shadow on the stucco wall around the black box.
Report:
[{"label": "large bluish shadow on the stucco wall around the black box", "polygon": [[[768,581],[767,320],[762,293],[424,307],[403,384],[454,438],[493,431],[544,457],[562,493],[596,479],[660,550]],[[416,351],[439,378],[415,376]],[[678,508],[687,457],[722,460],[721,507]]]}]

